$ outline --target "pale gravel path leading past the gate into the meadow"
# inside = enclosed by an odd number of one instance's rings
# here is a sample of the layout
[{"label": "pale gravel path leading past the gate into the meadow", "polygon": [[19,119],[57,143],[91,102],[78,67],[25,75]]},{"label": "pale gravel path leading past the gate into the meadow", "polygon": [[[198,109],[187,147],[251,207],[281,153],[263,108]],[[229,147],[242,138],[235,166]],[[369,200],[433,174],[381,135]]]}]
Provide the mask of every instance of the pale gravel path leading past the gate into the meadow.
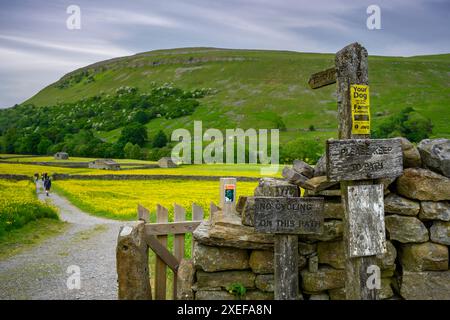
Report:
[{"label": "pale gravel path leading past the gate into the meadow", "polygon": [[[133,222],[90,216],[55,193],[38,196],[57,206],[70,225],[63,234],[0,261],[0,299],[117,299],[117,236],[120,226]],[[69,266],[80,268],[80,289],[68,289]]]}]

